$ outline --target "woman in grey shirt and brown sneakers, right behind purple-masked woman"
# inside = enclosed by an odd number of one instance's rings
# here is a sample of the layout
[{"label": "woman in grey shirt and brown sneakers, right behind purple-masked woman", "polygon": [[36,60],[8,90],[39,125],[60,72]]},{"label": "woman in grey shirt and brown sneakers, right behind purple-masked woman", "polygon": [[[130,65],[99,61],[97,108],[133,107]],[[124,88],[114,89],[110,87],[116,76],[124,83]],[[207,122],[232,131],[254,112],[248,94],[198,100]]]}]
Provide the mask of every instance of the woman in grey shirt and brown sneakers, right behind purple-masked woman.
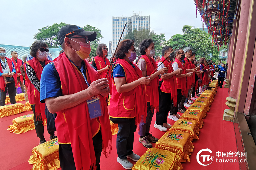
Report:
[{"label": "woman in grey shirt and brown sneakers, right behind purple-masked woman", "polygon": [[155,60],[152,58],[155,55],[155,44],[150,38],[143,40],[139,44],[139,53],[141,53],[142,56],[139,59],[137,66],[141,69],[144,77],[149,76],[151,79],[151,82],[145,86],[148,110],[146,123],[142,122],[139,127],[139,142],[142,143],[144,147],[149,148],[152,147],[150,142],[158,141],[158,138],[155,138],[151,133],[149,133],[154,110],[155,112],[158,112],[159,109],[158,75],[167,73],[168,67],[157,70]]}]

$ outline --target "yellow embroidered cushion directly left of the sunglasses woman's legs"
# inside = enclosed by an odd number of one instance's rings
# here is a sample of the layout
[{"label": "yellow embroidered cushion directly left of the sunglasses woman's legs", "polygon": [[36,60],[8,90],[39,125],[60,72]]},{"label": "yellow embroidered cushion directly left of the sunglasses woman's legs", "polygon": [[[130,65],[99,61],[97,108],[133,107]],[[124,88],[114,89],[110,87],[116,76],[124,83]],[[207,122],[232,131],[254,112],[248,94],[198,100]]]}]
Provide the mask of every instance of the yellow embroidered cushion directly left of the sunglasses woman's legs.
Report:
[{"label": "yellow embroidered cushion directly left of the sunglasses woman's legs", "polygon": [[27,114],[13,119],[12,125],[8,126],[9,128],[7,130],[20,134],[35,129],[33,116],[34,114]]}]

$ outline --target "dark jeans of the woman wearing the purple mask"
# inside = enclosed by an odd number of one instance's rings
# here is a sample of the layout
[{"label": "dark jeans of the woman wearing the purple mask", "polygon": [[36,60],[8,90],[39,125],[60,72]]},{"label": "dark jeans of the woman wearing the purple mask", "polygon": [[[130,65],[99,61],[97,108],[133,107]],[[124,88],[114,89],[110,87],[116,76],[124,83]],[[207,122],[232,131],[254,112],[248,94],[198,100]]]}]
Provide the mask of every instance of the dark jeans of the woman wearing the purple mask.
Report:
[{"label": "dark jeans of the woman wearing the purple mask", "polygon": [[120,159],[127,159],[127,155],[133,153],[134,132],[136,132],[135,118],[112,118],[113,123],[118,123],[117,132],[117,156]]}]

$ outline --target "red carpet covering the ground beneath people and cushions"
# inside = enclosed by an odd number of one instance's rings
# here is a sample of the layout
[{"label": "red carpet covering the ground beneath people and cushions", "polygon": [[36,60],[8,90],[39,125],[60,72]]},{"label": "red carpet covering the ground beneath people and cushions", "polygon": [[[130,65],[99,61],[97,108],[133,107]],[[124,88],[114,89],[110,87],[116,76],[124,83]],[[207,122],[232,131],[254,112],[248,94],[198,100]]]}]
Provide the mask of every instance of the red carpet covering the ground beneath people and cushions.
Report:
[{"label": "red carpet covering the ground beneath people and cushions", "polygon": [[[222,121],[223,110],[228,107],[225,105],[226,97],[228,96],[228,89],[219,88],[212,105],[210,106],[210,111],[207,112],[207,116],[203,119],[204,125],[200,129],[198,137],[200,140],[194,140],[193,144],[195,146],[194,151],[190,156],[191,162],[182,163],[184,170],[197,169],[214,169],[214,170],[225,170],[232,169],[238,170],[238,163],[217,163],[216,162],[216,152],[236,152],[235,143],[235,133],[234,126],[232,122]],[[21,102],[24,103],[25,101]],[[22,133],[14,134],[7,131],[8,125],[12,124],[12,119],[25,115],[31,114],[30,112],[23,112],[21,114],[12,115],[9,117],[0,118],[0,140],[1,140],[1,154],[0,154],[0,169],[1,170],[30,170],[32,165],[27,162],[29,157],[32,155],[32,149],[39,144],[39,138],[36,135],[35,130]],[[154,128],[155,116],[152,119],[151,129],[152,134],[161,138],[165,132],[161,132]],[[168,119],[168,123],[174,124],[173,120]],[[45,138],[49,140],[49,134],[46,131],[45,126]],[[147,148],[143,147],[138,141],[139,135],[137,132],[134,133],[134,153],[142,155],[146,152]],[[154,147],[154,144],[153,144]],[[212,153],[202,152],[201,154],[210,154],[213,156],[213,162],[208,166],[202,166],[197,162],[197,152],[201,149],[208,148],[212,150]],[[115,169],[123,170],[124,168],[117,162],[117,151],[116,151],[116,135],[113,136],[113,149],[108,158],[105,158],[104,154],[101,155],[101,169]],[[234,159],[234,158],[228,158]],[[203,162],[203,157],[199,157],[200,162],[204,164],[209,164],[211,161]],[[135,162],[131,161],[133,164]]]}]

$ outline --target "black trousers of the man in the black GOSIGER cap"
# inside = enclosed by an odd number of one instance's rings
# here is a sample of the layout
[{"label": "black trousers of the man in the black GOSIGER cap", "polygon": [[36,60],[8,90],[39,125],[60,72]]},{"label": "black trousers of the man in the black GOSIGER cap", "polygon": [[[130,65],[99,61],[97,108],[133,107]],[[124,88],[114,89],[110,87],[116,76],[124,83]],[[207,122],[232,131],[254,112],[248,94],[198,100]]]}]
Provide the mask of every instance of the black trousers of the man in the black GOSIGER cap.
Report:
[{"label": "black trousers of the man in the black GOSIGER cap", "polygon": [[[102,151],[102,136],[99,131],[93,138],[93,147],[96,156],[97,170],[100,170]],[[76,170],[71,144],[59,144],[59,163],[62,170]]]}]

